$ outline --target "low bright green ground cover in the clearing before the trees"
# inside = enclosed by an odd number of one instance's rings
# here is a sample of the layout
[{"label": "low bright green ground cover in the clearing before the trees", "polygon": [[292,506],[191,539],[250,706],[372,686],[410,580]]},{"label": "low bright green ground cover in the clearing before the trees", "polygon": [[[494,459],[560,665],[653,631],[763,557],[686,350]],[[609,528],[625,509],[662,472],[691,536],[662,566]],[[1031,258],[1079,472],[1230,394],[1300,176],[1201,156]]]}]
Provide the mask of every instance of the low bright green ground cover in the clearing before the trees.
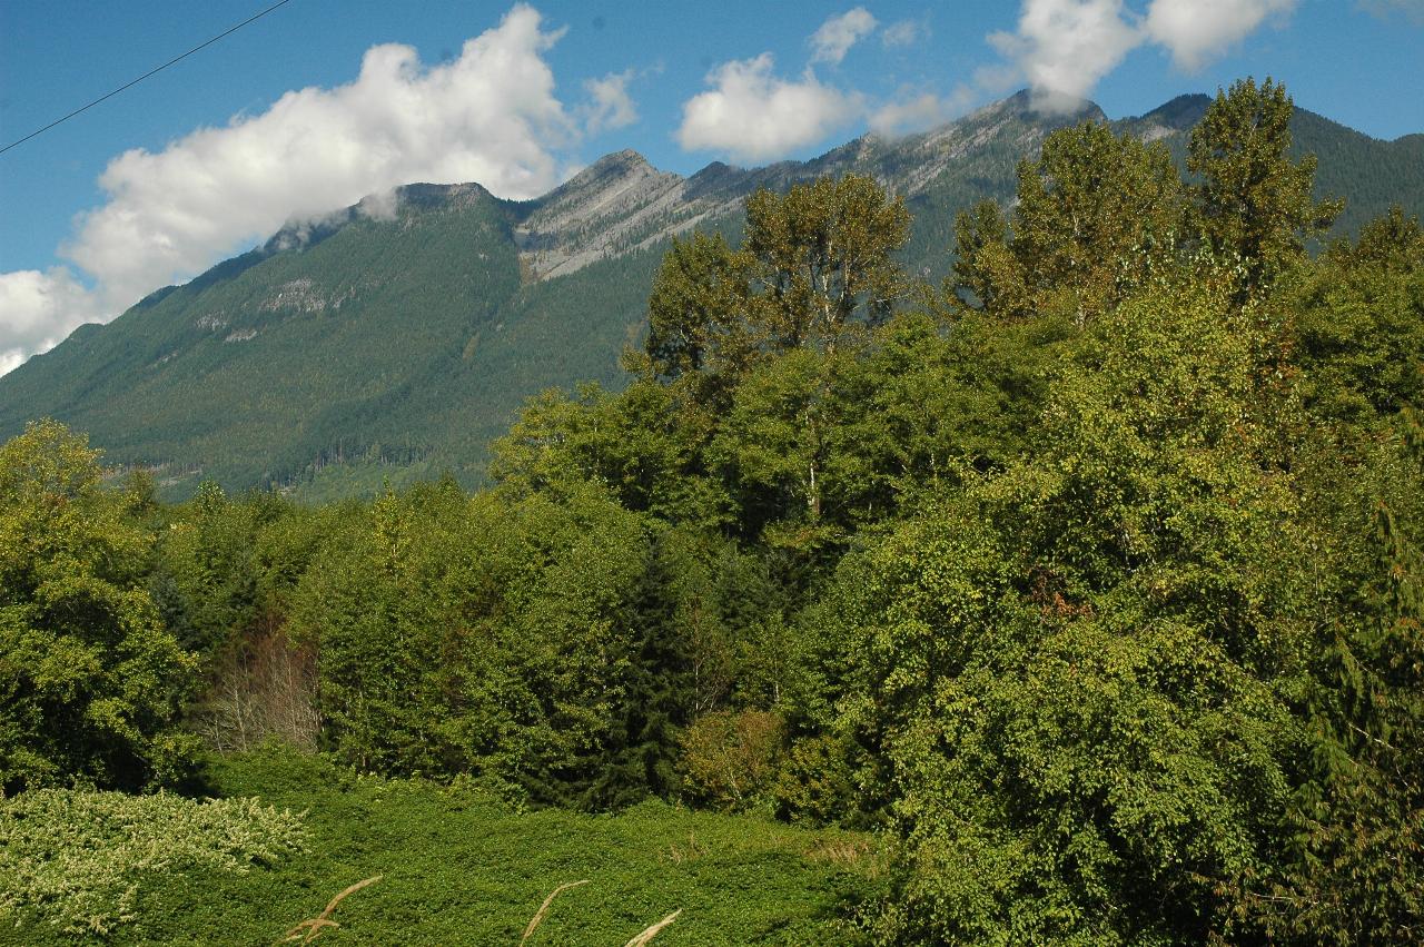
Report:
[{"label": "low bright green ground cover in the clearing before the trees", "polygon": [[[308,850],[246,873],[150,872],[135,919],[107,944],[275,944],[352,883],[316,943],[619,947],[674,911],[658,947],[837,944],[879,887],[869,836],[645,803],[615,816],[518,813],[473,792],[356,778],[269,750],[215,762],[214,795],[305,810]],[[13,920],[13,919],[11,919]],[[73,944],[33,911],[0,946]]]}]

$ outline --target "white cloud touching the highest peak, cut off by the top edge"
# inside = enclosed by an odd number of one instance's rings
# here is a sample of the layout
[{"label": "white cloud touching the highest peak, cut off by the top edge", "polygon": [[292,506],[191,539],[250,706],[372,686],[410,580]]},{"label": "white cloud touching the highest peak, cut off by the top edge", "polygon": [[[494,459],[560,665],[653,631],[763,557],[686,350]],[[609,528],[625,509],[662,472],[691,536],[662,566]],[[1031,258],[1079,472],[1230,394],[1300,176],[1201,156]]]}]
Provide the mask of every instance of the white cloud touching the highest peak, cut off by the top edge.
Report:
[{"label": "white cloud touching the highest peak, cut off by the top edge", "polygon": [[988,41],[1052,111],[1087,97],[1141,34],[1124,20],[1122,0],[1024,0],[1018,30],[994,33]]}]

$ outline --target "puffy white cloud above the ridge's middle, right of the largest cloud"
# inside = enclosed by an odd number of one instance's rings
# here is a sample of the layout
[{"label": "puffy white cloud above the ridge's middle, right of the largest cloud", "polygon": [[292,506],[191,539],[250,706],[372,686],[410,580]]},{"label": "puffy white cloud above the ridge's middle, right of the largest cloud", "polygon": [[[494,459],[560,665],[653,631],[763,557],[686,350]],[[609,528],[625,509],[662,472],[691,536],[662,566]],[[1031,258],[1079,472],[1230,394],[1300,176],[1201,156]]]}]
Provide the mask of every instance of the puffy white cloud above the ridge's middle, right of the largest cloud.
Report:
[{"label": "puffy white cloud above the ridge's middle, right of the largest cloud", "polygon": [[738,161],[780,158],[816,144],[866,111],[859,93],[773,74],[770,53],[723,63],[708,74],[712,90],[682,104],[676,138],[688,151],[719,151]]}]

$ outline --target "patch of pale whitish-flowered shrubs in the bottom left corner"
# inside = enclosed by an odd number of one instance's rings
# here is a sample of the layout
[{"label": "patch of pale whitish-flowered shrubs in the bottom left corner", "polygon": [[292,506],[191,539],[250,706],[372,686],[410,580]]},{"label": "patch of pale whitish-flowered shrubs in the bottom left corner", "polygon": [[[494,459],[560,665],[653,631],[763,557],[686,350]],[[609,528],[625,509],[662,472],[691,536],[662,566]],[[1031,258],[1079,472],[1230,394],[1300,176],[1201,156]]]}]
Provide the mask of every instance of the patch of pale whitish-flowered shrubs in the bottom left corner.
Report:
[{"label": "patch of pale whitish-flowered shrubs in the bottom left corner", "polygon": [[246,873],[306,844],[299,816],[256,799],[36,789],[0,799],[0,921],[103,938],[140,917],[141,887]]}]

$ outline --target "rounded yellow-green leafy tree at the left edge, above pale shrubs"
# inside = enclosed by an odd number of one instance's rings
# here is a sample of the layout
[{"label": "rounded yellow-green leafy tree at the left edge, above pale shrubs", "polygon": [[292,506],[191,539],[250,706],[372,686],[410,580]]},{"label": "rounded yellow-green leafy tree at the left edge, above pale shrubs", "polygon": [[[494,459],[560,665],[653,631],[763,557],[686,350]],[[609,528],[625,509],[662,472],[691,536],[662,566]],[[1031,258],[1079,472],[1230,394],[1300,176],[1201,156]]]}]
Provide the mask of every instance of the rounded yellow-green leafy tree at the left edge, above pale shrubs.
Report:
[{"label": "rounded yellow-green leafy tree at the left edge, above pale shrubs", "polygon": [[38,422],[0,447],[0,790],[181,775],[195,662],[144,588],[148,537],[98,451]]}]

